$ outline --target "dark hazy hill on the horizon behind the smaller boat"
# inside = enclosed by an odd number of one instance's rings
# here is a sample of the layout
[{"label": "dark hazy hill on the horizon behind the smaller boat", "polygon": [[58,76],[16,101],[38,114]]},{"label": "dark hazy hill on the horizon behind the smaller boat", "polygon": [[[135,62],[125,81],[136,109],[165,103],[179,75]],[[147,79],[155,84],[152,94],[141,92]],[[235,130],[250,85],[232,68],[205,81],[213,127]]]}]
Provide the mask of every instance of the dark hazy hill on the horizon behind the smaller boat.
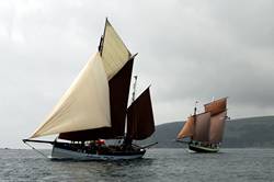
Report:
[{"label": "dark hazy hill on the horizon behind the smaller boat", "polygon": [[[175,138],[184,122],[156,126],[156,133],[142,144],[158,141],[157,148],[181,148]],[[226,122],[224,148],[274,147],[274,116],[239,118]]]}]

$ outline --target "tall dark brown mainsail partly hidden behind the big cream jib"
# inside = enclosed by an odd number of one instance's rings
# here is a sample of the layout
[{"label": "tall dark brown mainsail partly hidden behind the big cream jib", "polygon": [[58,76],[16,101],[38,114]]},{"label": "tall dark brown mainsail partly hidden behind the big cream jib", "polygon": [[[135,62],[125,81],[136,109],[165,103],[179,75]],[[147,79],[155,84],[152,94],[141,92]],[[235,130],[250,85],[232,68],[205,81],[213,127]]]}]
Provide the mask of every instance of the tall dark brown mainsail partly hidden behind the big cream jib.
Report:
[{"label": "tall dark brown mainsail partly hidden behind the big cream jib", "polygon": [[134,58],[126,62],[109,81],[112,127],[62,133],[59,135],[59,138],[68,140],[93,140],[98,138],[107,139],[124,136],[133,62]]}]

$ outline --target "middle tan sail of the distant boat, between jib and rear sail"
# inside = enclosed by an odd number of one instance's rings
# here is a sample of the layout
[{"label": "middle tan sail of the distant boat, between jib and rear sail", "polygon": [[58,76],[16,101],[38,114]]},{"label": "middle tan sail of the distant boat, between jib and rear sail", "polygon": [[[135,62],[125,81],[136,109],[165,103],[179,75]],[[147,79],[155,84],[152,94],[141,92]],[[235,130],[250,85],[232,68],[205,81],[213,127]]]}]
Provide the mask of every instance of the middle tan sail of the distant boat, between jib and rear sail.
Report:
[{"label": "middle tan sail of the distant boat, between jib and rear sail", "polygon": [[210,126],[210,113],[202,113],[194,115],[194,136],[193,139],[196,141],[208,141],[209,140],[209,126]]}]

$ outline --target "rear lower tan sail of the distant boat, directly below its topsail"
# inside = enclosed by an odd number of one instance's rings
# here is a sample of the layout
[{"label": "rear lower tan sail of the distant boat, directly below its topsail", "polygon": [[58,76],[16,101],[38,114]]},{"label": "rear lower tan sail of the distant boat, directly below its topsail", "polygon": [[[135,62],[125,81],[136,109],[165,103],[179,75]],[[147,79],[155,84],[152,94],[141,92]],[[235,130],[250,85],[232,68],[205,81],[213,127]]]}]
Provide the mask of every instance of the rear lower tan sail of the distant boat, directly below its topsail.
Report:
[{"label": "rear lower tan sail of the distant boat, directly below its topsail", "polygon": [[222,140],[227,112],[221,112],[210,118],[209,141],[218,144]]}]

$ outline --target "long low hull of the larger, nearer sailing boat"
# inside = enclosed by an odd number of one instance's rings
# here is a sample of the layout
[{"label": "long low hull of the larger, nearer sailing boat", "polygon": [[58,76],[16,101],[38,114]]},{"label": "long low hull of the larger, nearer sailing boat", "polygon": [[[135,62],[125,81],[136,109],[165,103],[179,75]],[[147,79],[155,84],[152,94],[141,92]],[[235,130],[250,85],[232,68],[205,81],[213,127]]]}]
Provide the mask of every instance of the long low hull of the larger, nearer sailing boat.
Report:
[{"label": "long low hull of the larger, nearer sailing boat", "polygon": [[88,153],[54,146],[50,159],[52,160],[130,160],[130,159],[142,158],[145,152],[146,152],[145,149],[139,149],[138,151]]}]

